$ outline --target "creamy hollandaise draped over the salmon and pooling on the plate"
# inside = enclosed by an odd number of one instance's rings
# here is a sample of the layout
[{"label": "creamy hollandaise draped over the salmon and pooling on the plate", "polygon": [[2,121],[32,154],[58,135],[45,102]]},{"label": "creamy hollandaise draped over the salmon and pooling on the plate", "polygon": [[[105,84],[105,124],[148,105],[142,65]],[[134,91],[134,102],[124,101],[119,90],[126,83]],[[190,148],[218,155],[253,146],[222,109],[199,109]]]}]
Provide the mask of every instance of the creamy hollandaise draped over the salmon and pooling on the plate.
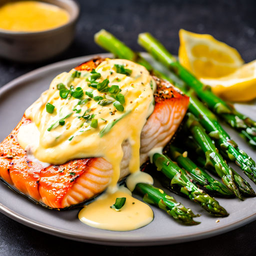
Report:
[{"label": "creamy hollandaise draped over the salmon and pooling on the plate", "polygon": [[[88,157],[103,157],[111,163],[107,192],[80,211],[82,222],[130,230],[153,219],[147,204],[116,184],[124,141],[130,144],[129,172],[133,173],[128,187],[133,190],[136,182],[152,183],[150,175],[139,171],[139,148],[141,130],[154,108],[154,90],[155,82],[145,67],[125,59],[106,59],[90,72],[72,69],[57,75],[25,111],[31,122],[20,127],[17,140],[28,157],[42,164]],[[118,211],[110,208],[116,197],[126,198]]]}]

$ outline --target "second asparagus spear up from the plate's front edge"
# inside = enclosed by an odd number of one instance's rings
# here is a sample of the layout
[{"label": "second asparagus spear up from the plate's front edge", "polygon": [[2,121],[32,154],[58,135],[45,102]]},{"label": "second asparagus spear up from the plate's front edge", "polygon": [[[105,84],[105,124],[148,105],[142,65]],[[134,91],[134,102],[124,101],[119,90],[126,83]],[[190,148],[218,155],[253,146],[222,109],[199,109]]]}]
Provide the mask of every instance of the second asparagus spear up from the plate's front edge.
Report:
[{"label": "second asparagus spear up from the plate's front edge", "polygon": [[[195,184],[193,184],[186,176],[185,171],[179,168],[177,164],[172,162],[167,156],[159,153],[155,153],[152,157],[152,161],[167,178],[169,178],[170,186],[176,184],[178,192],[186,195],[190,200],[198,202],[202,208],[207,210],[214,216],[225,217],[228,216],[226,210],[219,205],[219,203],[204,193]],[[177,192],[176,189],[173,190]]]}]

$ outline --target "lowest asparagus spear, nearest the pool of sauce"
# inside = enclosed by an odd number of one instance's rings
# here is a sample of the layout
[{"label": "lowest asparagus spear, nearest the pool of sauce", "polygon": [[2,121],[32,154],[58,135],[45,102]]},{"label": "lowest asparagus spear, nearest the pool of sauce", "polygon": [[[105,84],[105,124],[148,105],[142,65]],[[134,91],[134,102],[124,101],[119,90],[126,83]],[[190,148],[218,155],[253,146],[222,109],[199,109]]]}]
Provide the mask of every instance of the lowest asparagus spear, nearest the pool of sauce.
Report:
[{"label": "lowest asparagus spear, nearest the pool of sauce", "polygon": [[197,215],[191,209],[185,208],[180,202],[177,202],[172,196],[157,187],[146,183],[137,183],[134,191],[141,194],[145,202],[157,205],[175,220],[185,225],[196,225],[200,223],[193,220],[193,217]]}]

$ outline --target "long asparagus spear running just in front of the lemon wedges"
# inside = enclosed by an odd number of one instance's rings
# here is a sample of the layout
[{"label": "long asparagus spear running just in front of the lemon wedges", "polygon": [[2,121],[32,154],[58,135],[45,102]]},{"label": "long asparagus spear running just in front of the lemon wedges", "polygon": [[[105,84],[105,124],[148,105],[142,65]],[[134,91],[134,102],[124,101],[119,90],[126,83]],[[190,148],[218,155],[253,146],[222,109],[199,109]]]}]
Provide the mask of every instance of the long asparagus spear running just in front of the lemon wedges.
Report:
[{"label": "long asparagus spear running just in front of the lemon wedges", "polygon": [[212,93],[209,86],[204,85],[196,79],[151,34],[139,34],[138,43],[193,88],[197,96],[203,100],[212,111],[221,116],[232,128],[244,134],[247,141],[252,146],[256,145],[256,121],[239,113],[232,105]]}]

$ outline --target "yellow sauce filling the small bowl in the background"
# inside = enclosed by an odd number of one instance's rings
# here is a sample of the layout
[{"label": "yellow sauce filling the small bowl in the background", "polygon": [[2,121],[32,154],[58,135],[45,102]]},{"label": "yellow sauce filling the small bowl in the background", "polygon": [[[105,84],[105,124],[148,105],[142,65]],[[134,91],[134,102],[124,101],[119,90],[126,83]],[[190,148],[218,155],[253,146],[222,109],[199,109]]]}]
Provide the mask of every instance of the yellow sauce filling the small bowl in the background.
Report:
[{"label": "yellow sauce filling the small bowl in the background", "polygon": [[66,10],[40,1],[11,1],[0,6],[0,29],[35,32],[61,26],[68,20]]}]

